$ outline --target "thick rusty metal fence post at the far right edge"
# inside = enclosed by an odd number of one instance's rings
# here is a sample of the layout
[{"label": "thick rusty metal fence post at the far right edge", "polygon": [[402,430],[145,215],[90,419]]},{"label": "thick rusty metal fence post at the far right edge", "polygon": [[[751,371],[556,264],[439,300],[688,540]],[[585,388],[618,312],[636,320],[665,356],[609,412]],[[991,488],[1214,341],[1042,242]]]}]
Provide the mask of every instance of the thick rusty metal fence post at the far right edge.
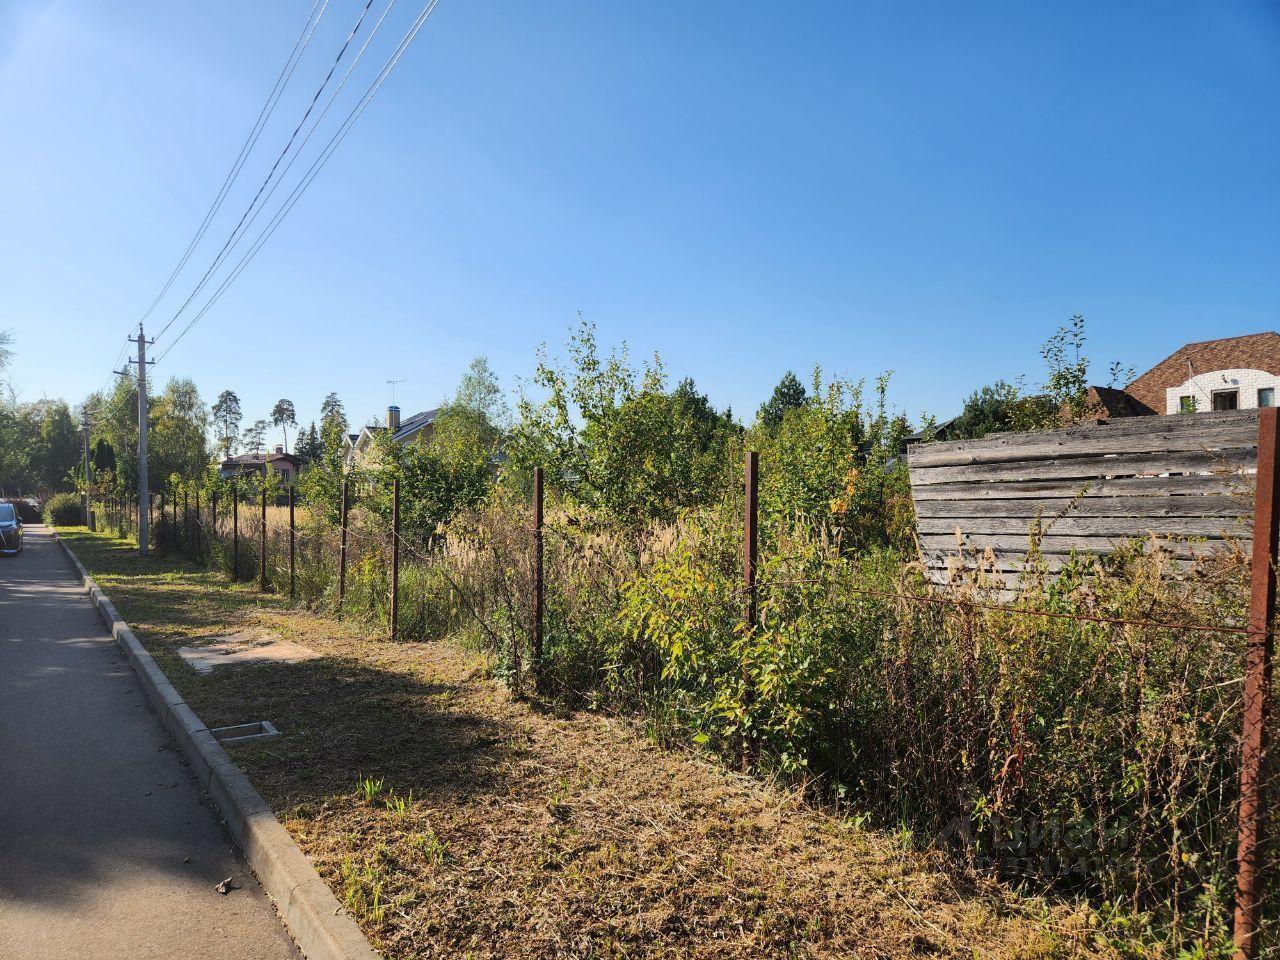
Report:
[{"label": "thick rusty metal fence post at the far right edge", "polygon": [[1244,727],[1240,733],[1240,806],[1235,873],[1235,956],[1258,956],[1258,913],[1262,891],[1261,859],[1266,818],[1263,777],[1267,753],[1267,713],[1272,622],[1276,612],[1276,532],[1280,529],[1280,486],[1276,456],[1280,420],[1275,407],[1258,411],[1258,474],[1253,493],[1253,563],[1249,586],[1249,634],[1244,654]]}]

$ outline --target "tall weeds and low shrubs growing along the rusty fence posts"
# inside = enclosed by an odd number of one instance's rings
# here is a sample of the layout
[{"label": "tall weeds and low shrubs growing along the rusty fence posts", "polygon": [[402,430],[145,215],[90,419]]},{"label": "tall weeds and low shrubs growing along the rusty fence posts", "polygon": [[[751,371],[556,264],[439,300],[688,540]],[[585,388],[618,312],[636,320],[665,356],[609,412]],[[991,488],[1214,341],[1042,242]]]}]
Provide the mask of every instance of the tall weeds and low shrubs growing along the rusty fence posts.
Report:
[{"label": "tall weeds and low shrubs growing along the rusty fence posts", "polygon": [[[462,635],[517,692],[640,716],[659,740],[947,847],[960,869],[1084,900],[1130,946],[1229,948],[1243,823],[1261,841],[1245,945],[1280,956],[1265,842],[1280,785],[1260,763],[1251,786],[1245,749],[1274,726],[1245,709],[1247,690],[1274,692],[1249,630],[1274,552],[1185,564],[1133,544],[1033,562],[1011,596],[980,557],[938,585],[794,518],[759,525],[741,492],[645,529],[549,493],[545,517],[507,497],[404,531],[357,497],[334,524],[261,493],[166,492],[154,529],[234,580],[385,630],[394,608],[396,639]],[[105,516],[136,529],[136,513]]]}]

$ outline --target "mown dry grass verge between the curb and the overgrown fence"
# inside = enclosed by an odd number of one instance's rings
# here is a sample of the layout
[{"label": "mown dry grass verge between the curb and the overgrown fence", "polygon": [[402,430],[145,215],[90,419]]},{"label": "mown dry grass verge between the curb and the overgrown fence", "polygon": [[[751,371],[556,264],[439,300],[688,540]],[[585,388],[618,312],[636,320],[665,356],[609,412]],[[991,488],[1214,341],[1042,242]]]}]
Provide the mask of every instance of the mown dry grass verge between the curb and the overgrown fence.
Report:
[{"label": "mown dry grass verge between the curb and the overgrown fence", "polygon": [[[959,884],[909,838],[513,700],[449,644],[390,644],[183,561],[60,531],[388,957],[1105,955],[1084,914]],[[320,654],[200,677],[268,628]]]}]

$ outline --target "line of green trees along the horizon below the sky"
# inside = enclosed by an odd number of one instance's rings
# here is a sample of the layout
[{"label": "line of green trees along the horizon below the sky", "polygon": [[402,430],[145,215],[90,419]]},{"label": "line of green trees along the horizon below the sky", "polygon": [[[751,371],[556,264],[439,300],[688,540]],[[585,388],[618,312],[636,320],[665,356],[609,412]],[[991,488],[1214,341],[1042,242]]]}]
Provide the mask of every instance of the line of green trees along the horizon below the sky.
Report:
[{"label": "line of green trees along the horizon below the sky", "polygon": [[[1039,429],[1060,422],[1064,412],[1074,419],[1087,415],[1084,342],[1084,320],[1073,317],[1042,347],[1042,387],[1028,389],[1021,378],[982,387],[946,424],[946,435]],[[746,442],[756,449],[777,447],[783,461],[787,451],[803,447],[801,440],[827,443],[831,451],[847,454],[842,470],[865,472],[868,465],[895,462],[911,433],[902,413],[887,412],[887,375],[874,381],[874,397],[868,401],[860,381],[824,379],[815,370],[805,384],[787,371],[754,420],[744,424],[732,410],[717,410],[692,379],[672,387],[659,357],[635,366],[625,344],[602,349],[589,323],[571,333],[566,355],[553,361],[545,348],[540,351],[513,412],[488,362],[477,358],[419,443],[393,449],[379,433],[358,468],[398,476],[407,494],[434,504],[421,517],[424,525],[443,522],[458,506],[475,502],[499,471],[517,488],[526,488],[534,466],[543,466],[552,483],[584,503],[644,524],[671,518],[717,495],[732,470],[735,451]],[[0,332],[0,493],[44,498],[79,489],[83,438],[72,408],[61,399],[19,403],[4,380],[12,357],[12,335]],[[1114,381],[1124,371],[1114,365],[1111,372]],[[92,421],[93,492],[128,494],[137,485],[134,379],[119,376],[91,393],[83,406]],[[292,452],[306,465],[303,472],[314,474],[303,486],[315,495],[335,492],[348,467],[349,422],[337,393],[324,398],[319,424],[297,430],[296,406],[288,398],[246,425],[234,390],[220,392],[206,406],[192,380],[174,378],[150,398],[150,419],[152,489],[173,476],[197,477],[237,453],[262,454],[273,428],[280,431],[285,451],[296,430]],[[817,421],[823,426],[815,426]],[[927,436],[937,424],[923,416],[918,426]],[[812,435],[791,435],[804,431]],[[823,461],[828,472],[835,470],[829,466],[835,460]],[[797,470],[801,466],[796,463]],[[829,489],[820,495],[828,506],[842,498],[856,500],[868,484],[887,483],[882,472],[874,467],[856,481],[832,474],[826,479]],[[873,481],[873,476],[879,479]],[[901,479],[893,483],[902,485]],[[806,503],[819,497],[812,481],[799,477],[788,481],[787,495]]]}]

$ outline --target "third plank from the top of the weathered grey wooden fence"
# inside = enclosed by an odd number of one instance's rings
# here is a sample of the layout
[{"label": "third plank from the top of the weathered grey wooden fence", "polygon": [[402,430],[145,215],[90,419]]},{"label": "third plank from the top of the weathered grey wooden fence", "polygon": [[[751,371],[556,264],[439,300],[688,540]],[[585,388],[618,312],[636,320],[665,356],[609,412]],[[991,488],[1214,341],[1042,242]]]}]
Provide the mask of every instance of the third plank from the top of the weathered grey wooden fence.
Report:
[{"label": "third plank from the top of the weathered grey wooden fence", "polygon": [[1094,497],[1178,497],[1224,494],[1253,498],[1252,474],[1181,474],[1178,476],[1121,476],[1080,480],[1021,480],[913,486],[916,506],[925,500],[1041,499]]}]

